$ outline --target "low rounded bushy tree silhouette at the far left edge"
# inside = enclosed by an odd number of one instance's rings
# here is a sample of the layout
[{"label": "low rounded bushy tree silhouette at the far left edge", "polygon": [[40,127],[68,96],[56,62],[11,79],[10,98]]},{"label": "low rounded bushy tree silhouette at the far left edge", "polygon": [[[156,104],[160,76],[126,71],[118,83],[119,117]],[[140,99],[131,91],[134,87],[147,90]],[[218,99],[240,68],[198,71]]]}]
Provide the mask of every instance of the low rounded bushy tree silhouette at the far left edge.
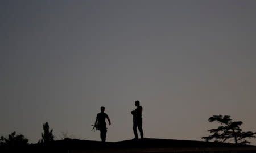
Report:
[{"label": "low rounded bushy tree silhouette at the far left edge", "polygon": [[8,138],[3,136],[0,137],[0,146],[14,147],[14,146],[25,146],[28,144],[28,139],[24,135],[16,135],[16,132],[9,134]]}]

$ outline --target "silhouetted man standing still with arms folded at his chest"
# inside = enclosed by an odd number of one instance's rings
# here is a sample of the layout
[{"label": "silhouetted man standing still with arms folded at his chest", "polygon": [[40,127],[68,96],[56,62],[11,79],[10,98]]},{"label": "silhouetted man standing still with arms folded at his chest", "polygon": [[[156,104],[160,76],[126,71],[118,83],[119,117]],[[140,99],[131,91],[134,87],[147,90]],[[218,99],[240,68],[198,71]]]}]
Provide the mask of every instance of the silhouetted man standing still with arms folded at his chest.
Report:
[{"label": "silhouetted man standing still with arms folded at his chest", "polygon": [[142,130],[142,106],[139,105],[139,101],[135,101],[135,110],[131,111],[133,114],[133,133],[135,135],[134,139],[138,139],[137,127],[139,133],[141,134],[141,139],[143,139],[143,130]]}]

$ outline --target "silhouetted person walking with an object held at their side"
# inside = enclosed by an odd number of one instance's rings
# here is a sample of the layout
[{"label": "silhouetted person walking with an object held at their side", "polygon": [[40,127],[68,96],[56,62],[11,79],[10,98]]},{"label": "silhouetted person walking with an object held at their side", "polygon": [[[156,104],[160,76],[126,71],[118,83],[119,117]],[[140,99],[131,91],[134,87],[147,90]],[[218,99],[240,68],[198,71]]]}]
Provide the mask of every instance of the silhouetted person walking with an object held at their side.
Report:
[{"label": "silhouetted person walking with an object held at their side", "polygon": [[105,107],[101,107],[101,113],[97,114],[96,121],[94,123],[94,127],[97,125],[97,129],[100,130],[101,132],[101,141],[105,142],[106,141],[106,122],[105,120],[108,119],[109,125],[111,125],[110,119],[108,114],[104,113]]}]

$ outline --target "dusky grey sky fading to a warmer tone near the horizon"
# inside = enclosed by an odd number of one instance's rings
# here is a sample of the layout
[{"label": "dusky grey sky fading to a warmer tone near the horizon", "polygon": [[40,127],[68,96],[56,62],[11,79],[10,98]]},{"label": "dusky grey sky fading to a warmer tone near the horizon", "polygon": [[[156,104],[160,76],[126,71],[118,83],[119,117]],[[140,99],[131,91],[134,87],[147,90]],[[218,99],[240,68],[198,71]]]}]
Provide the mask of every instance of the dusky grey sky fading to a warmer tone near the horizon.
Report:
[{"label": "dusky grey sky fading to a warmer tone near the horizon", "polygon": [[[0,135],[36,143],[134,137],[201,140],[212,115],[256,131],[256,1],[0,1]],[[256,144],[256,140],[251,140]]]}]

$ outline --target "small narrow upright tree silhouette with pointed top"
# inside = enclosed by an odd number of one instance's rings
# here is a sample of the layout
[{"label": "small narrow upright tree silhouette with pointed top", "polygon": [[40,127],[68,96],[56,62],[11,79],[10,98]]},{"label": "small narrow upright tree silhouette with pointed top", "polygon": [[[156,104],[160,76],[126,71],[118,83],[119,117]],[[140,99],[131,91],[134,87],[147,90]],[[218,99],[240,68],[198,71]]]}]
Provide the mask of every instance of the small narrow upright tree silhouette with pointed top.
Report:
[{"label": "small narrow upright tree silhouette with pointed top", "polygon": [[48,143],[48,142],[54,141],[54,136],[52,134],[53,130],[52,129],[49,130],[48,122],[43,124],[43,130],[44,130],[44,133],[41,133],[42,139],[40,139],[38,143]]}]

